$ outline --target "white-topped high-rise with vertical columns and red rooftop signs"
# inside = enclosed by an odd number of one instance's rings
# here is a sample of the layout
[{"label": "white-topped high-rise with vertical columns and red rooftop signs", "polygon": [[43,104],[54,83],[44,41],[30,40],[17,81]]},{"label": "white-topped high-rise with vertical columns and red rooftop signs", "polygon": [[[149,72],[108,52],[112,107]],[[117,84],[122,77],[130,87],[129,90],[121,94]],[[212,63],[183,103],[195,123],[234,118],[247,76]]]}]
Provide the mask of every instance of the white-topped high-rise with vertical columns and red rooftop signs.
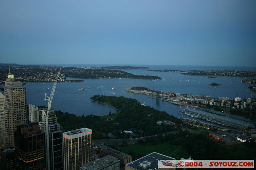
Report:
[{"label": "white-topped high-rise with vertical columns and red rooftop signs", "polygon": [[71,130],[62,134],[63,169],[79,169],[83,164],[91,162],[92,130],[87,128]]}]

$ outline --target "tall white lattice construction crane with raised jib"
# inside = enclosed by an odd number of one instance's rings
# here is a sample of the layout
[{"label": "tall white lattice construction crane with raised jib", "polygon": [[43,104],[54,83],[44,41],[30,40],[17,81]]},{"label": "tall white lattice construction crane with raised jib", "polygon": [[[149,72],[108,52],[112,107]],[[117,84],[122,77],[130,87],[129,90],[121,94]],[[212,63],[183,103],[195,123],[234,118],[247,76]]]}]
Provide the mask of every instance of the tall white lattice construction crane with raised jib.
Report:
[{"label": "tall white lattice construction crane with raised jib", "polygon": [[45,151],[46,151],[46,169],[47,170],[51,169],[51,167],[50,167],[50,146],[49,146],[48,114],[49,114],[49,111],[51,109],[52,99],[53,99],[53,96],[54,96],[54,92],[55,92],[55,88],[56,88],[59,76],[60,76],[60,71],[57,74],[57,77],[56,77],[55,82],[53,84],[50,96],[47,96],[47,94],[45,93],[45,98],[44,98],[45,101],[46,100],[48,101],[47,112],[45,113],[45,111],[43,110],[44,111],[43,117],[45,118],[45,140],[46,140],[45,141]]}]

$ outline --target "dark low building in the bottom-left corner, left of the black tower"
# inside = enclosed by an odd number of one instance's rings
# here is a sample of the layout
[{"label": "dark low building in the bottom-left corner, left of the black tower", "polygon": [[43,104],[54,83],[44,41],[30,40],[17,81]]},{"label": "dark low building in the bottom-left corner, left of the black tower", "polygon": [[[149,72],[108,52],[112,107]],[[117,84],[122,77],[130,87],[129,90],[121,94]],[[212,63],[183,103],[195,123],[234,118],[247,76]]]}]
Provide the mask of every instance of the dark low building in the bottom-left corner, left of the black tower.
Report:
[{"label": "dark low building in the bottom-left corner, left of the black tower", "polygon": [[1,164],[0,169],[16,170],[17,163],[15,158],[15,148],[2,149],[0,152]]}]

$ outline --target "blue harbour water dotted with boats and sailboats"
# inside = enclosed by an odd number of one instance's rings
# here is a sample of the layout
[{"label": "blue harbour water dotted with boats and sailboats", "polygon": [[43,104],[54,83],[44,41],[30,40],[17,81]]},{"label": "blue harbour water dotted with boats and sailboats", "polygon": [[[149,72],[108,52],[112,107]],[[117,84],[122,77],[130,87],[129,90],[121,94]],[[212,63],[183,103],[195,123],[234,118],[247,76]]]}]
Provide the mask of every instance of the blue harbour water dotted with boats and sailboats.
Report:
[{"label": "blue harbour water dotted with boats and sailboats", "polygon": [[[92,65],[65,65],[77,67],[91,67]],[[93,65],[98,66],[98,65]],[[142,65],[143,67],[145,65]],[[223,69],[223,70],[250,70],[256,71],[255,67],[209,67],[209,66],[146,66],[149,69],[179,69],[179,70],[202,70],[202,69]],[[130,78],[104,78],[104,79],[84,79],[85,82],[65,82],[58,83],[52,107],[55,110],[79,115],[107,115],[109,110],[112,113],[115,109],[90,100],[93,95],[125,96],[134,98],[144,105],[154,107],[157,110],[166,111],[170,115],[179,117],[180,111],[187,106],[177,106],[165,101],[148,98],[147,95],[126,92],[126,88],[133,86],[148,87],[153,90],[164,92],[188,93],[194,95],[253,98],[256,93],[248,89],[250,84],[240,82],[243,77],[222,77],[218,76],[209,79],[208,76],[185,76],[178,72],[153,72],[148,70],[123,70],[136,75],[154,75],[163,80],[144,80]],[[76,78],[68,78],[76,79]],[[218,83],[221,86],[210,86],[210,83]],[[27,83],[27,104],[36,106],[45,105],[44,93],[50,94],[53,83]],[[1,85],[3,86],[3,85]],[[80,88],[84,90],[78,90]],[[115,89],[112,89],[115,87]]]}]

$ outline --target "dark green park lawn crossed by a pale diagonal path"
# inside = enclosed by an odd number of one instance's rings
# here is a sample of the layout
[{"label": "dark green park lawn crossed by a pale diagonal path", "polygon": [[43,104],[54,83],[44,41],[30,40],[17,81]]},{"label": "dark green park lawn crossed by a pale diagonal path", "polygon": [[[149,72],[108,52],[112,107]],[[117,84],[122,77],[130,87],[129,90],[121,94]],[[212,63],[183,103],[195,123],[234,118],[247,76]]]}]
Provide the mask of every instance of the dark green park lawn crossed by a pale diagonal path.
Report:
[{"label": "dark green park lawn crossed by a pale diagonal path", "polygon": [[[120,149],[121,149],[121,152],[124,152],[126,154],[129,154],[129,153],[131,154],[132,152],[131,155],[133,157],[133,160],[136,160],[152,152],[157,152],[157,153],[161,153],[163,155],[169,156],[170,154],[172,154],[172,152],[174,152],[179,147],[180,145],[172,145],[169,143],[163,143],[163,144],[148,143],[145,146],[143,144],[131,144],[125,147],[120,147]],[[189,154],[185,149],[181,147],[177,152],[172,154],[170,157],[175,159],[180,159],[181,157],[188,158]]]}]

